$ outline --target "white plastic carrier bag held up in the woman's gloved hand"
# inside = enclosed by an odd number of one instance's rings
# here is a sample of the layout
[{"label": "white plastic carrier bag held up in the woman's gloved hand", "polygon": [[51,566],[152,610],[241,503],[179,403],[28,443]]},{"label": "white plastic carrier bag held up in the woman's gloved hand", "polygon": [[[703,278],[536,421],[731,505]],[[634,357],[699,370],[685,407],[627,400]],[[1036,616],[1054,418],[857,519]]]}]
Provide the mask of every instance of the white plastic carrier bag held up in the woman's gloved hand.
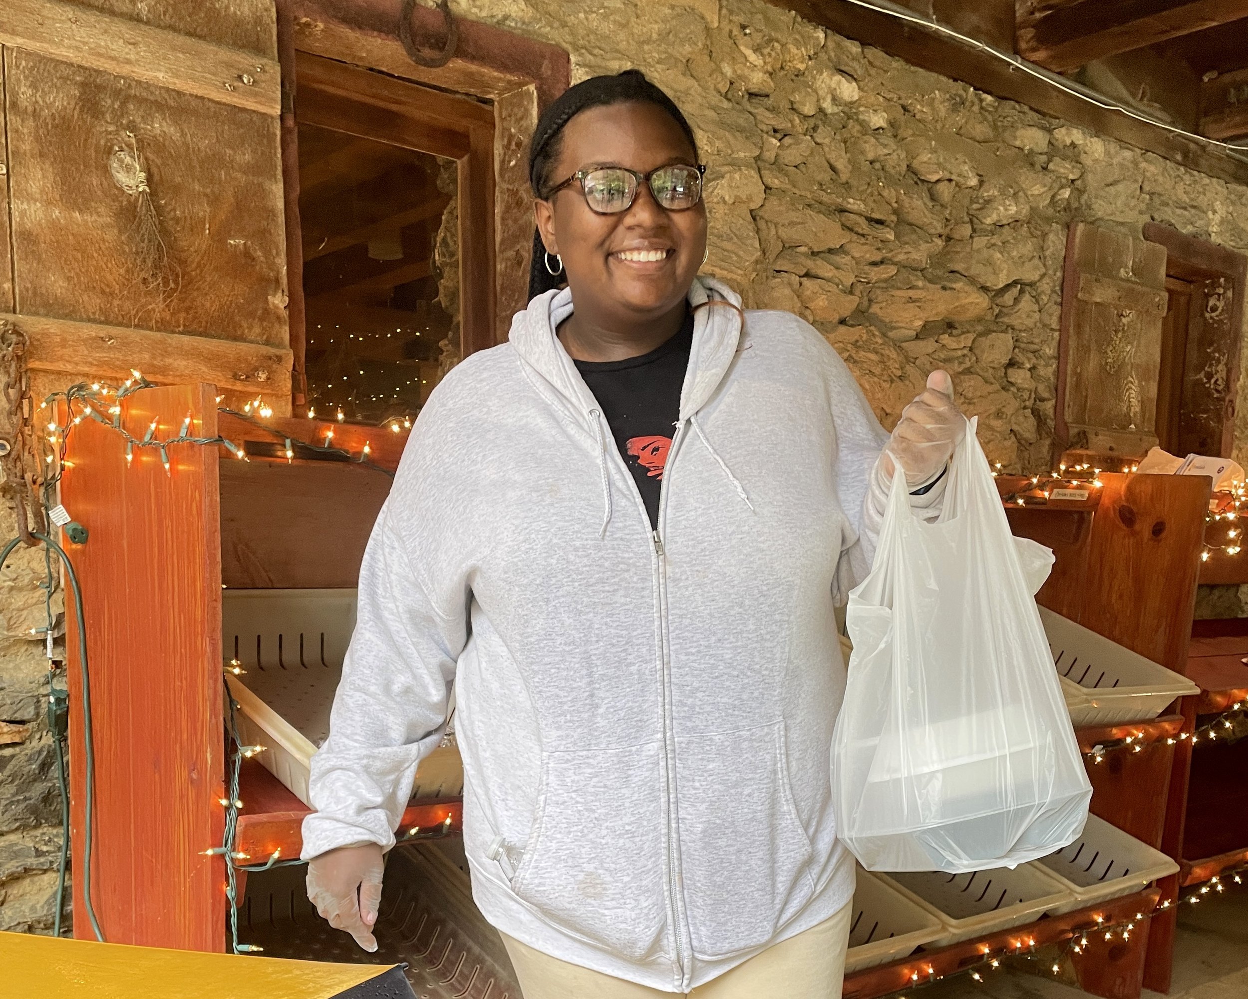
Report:
[{"label": "white plastic carrier bag held up in the woman's gloved hand", "polygon": [[1053,556],[1010,532],[975,436],[936,523],[892,478],[832,737],[841,840],[869,870],[1015,867],[1072,843],[1092,787],[1035,592]]}]

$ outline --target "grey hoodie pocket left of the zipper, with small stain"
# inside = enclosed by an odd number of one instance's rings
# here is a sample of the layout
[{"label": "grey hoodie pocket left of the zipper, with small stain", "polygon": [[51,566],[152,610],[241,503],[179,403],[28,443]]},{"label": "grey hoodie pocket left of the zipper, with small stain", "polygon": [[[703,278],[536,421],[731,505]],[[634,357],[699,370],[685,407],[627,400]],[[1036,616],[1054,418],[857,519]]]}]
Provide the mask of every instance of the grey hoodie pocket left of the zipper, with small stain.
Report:
[{"label": "grey hoodie pocket left of the zipper, with small stain", "polygon": [[633,962],[666,925],[659,743],[542,754],[512,890],[563,930]]}]

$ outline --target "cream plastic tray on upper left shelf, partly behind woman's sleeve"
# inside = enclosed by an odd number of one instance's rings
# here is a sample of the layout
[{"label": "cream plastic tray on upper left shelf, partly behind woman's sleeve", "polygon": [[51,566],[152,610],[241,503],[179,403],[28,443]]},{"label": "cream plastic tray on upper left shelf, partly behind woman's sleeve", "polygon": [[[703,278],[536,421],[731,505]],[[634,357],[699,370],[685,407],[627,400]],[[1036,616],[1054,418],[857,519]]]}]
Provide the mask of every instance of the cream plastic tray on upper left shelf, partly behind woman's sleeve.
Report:
[{"label": "cream plastic tray on upper left shelf, partly behind woman's sleeve", "polygon": [[[354,589],[227,589],[222,592],[222,651],[242,676],[226,674],[238,702],[235,723],[257,759],[305,804],[312,755],[329,734],[329,708],[356,626]],[[463,793],[453,737],[416,774],[413,798]]]}]

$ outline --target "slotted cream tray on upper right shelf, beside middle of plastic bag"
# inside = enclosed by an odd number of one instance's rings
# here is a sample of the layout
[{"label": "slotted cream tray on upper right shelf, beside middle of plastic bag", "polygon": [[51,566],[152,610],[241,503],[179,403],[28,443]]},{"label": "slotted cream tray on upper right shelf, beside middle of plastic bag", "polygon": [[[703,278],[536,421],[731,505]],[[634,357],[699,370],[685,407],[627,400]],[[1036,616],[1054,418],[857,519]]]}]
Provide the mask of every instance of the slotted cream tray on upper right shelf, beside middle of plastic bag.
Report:
[{"label": "slotted cream tray on upper right shelf, beside middle of plastic bag", "polygon": [[1041,607],[1066,706],[1076,728],[1144,722],[1199,688],[1102,634]]}]

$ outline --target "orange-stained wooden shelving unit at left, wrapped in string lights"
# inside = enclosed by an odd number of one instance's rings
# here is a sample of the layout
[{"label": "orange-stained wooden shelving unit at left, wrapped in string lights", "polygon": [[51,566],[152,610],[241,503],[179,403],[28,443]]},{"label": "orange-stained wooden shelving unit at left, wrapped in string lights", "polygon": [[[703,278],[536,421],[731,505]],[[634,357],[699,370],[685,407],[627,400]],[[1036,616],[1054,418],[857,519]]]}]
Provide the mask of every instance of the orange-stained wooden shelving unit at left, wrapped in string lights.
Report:
[{"label": "orange-stained wooden shelving unit at left, wrapped in string lights", "polygon": [[[226,947],[225,862],[205,855],[225,828],[221,592],[225,587],[354,587],[391,477],[298,441],[327,441],[393,471],[407,432],[311,420],[258,421],[218,413],[210,385],[151,388],[122,402],[142,438],[222,435],[225,447],[172,445],[166,473],[136,448],[84,420],[69,438],[61,501],[90,532],[67,544],[82,586],[95,727],[91,897],[110,942],[191,950]],[[331,437],[332,435],[332,437]],[[288,462],[286,438],[293,458]],[[74,870],[85,870],[82,689],[69,614]],[[258,764],[248,765],[236,849],[263,863],[298,855],[307,808]],[[458,802],[422,802],[406,828],[436,827]],[[84,913],[82,879],[74,907]],[[75,933],[90,937],[85,918]]]}]

